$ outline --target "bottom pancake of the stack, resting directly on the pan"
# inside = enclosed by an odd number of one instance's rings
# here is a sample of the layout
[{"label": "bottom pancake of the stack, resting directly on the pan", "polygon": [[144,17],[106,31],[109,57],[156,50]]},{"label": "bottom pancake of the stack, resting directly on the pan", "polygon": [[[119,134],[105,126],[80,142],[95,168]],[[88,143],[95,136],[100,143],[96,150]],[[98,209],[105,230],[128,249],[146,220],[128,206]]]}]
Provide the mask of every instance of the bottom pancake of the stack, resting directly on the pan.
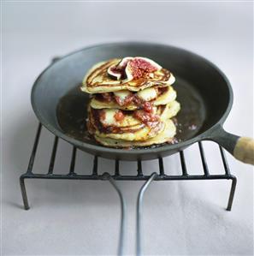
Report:
[{"label": "bottom pancake of the stack, resting directly on the pan", "polygon": [[128,141],[128,140],[114,140],[110,138],[103,138],[97,134],[94,136],[95,140],[103,146],[109,147],[138,147],[138,146],[152,146],[158,145],[165,142],[172,142],[174,140],[174,135],[176,134],[176,128],[174,122],[168,119],[165,122],[165,126],[160,134],[157,136],[143,141]]}]

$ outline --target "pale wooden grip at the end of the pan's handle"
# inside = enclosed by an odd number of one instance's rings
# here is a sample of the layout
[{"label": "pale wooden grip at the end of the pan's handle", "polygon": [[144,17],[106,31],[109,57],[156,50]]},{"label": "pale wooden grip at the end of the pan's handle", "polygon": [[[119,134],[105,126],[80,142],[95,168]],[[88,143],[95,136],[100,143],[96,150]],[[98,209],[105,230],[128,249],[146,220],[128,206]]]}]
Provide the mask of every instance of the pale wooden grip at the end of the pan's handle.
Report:
[{"label": "pale wooden grip at the end of the pan's handle", "polygon": [[241,137],[233,149],[233,156],[245,164],[254,165],[254,140]]}]

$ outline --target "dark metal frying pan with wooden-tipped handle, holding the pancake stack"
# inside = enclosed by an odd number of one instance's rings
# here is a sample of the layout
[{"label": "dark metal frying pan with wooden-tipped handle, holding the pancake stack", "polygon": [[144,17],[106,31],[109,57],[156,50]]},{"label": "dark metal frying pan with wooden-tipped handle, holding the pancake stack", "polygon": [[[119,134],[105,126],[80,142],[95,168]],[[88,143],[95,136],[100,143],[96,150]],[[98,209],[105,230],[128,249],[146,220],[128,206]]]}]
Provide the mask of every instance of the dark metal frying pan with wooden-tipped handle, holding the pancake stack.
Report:
[{"label": "dark metal frying pan with wooden-tipped handle, holding the pancake stack", "polygon": [[[80,84],[93,64],[114,57],[148,57],[176,77],[174,88],[181,110],[176,144],[138,149],[99,146],[86,136],[89,95]],[[227,77],[213,63],[190,51],[152,43],[112,43],[74,51],[45,68],[32,86],[32,109],[50,132],[80,150],[102,158],[148,160],[165,157],[200,140],[214,140],[240,161],[253,164],[254,140],[227,133],[223,128],[233,104]]]}]

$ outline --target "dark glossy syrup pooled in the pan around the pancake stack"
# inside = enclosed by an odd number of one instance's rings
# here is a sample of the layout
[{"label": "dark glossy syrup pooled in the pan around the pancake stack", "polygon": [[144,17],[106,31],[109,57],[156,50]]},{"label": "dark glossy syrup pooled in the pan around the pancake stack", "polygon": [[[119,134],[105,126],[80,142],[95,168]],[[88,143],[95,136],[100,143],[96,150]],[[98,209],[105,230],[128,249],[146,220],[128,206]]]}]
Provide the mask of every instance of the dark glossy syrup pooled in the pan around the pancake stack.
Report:
[{"label": "dark glossy syrup pooled in the pan around the pancake stack", "polygon": [[[186,80],[177,78],[173,86],[177,92],[176,99],[180,102],[181,107],[178,115],[173,119],[177,127],[174,143],[177,143],[198,134],[205,119],[205,105],[194,86]],[[59,126],[65,134],[76,140],[97,144],[86,129],[88,101],[89,95],[80,91],[80,85],[75,86],[60,99],[56,108],[56,116]]]}]

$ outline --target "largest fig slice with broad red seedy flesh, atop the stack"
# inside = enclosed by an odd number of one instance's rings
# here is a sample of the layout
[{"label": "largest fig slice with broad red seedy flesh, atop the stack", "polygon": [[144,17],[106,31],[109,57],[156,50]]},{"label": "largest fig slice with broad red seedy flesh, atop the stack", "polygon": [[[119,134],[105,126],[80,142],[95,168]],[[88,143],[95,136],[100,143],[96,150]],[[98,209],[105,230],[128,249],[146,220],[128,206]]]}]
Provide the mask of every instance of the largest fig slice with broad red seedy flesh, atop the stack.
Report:
[{"label": "largest fig slice with broad red seedy flesh, atop the stack", "polygon": [[162,67],[149,58],[134,57],[127,62],[125,73],[127,80],[133,80],[144,77],[146,74],[151,74],[160,69],[162,69]]}]

